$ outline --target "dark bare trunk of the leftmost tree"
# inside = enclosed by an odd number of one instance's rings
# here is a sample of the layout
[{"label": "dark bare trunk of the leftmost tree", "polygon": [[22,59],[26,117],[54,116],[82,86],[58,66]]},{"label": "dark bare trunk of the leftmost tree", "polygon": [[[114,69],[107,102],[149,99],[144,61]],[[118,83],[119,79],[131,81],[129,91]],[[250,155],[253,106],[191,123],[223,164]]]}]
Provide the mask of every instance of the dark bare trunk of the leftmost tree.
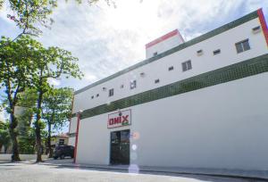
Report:
[{"label": "dark bare trunk of the leftmost tree", "polygon": [[11,113],[11,122],[9,125],[9,134],[12,139],[13,143],[13,155],[12,155],[12,161],[21,161],[20,156],[19,156],[19,145],[18,145],[18,140],[17,140],[17,132],[15,131],[15,128],[18,125],[18,122],[14,116],[14,108],[12,108],[13,112]]}]

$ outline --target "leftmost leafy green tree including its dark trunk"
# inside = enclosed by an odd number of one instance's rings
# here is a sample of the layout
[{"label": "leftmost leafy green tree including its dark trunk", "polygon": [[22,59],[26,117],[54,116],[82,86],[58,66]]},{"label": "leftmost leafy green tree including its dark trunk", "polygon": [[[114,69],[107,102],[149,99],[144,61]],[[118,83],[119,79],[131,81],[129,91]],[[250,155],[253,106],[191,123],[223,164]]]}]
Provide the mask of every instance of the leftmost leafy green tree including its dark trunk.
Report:
[{"label": "leftmost leafy green tree including its dark trunk", "polygon": [[[1,45],[4,45],[1,47]],[[15,106],[19,95],[29,86],[32,71],[33,50],[39,46],[29,37],[20,37],[16,41],[1,37],[0,41],[0,83],[7,98],[5,111],[10,114],[9,133],[13,144],[13,161],[20,161],[15,117]]]}]

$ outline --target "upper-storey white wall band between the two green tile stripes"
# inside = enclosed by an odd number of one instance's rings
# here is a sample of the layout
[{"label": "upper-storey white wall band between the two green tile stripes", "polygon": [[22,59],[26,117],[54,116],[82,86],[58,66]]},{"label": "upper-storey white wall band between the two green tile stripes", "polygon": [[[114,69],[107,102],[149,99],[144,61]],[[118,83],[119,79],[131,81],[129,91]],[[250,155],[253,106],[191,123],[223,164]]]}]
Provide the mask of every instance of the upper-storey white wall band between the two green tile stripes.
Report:
[{"label": "upper-storey white wall band between the two green tile stripes", "polygon": [[[174,54],[167,55],[162,59],[148,63],[136,70],[131,70],[117,78],[74,95],[73,112],[87,110],[129,95],[136,95],[155,87],[161,87],[210,70],[245,61],[258,55],[267,54],[267,45],[263,32],[261,31],[257,34],[252,33],[252,28],[259,25],[260,21],[258,18],[248,21],[218,36],[211,37]],[[246,38],[249,38],[251,49],[237,54],[235,43]],[[222,54],[213,55],[213,51],[219,48],[221,48]],[[201,56],[197,55],[197,50],[199,49],[203,49],[204,51],[204,54]],[[193,69],[182,72],[181,62],[188,60],[191,60]],[[170,66],[173,66],[174,70],[168,71]],[[141,72],[145,72],[146,75],[144,78],[140,77],[139,74]],[[130,80],[133,79],[137,80],[137,88],[130,90]],[[160,83],[155,84],[155,79],[160,79]],[[120,88],[121,84],[124,85],[124,88]],[[103,91],[103,87],[106,87],[107,90]],[[110,88],[114,88],[114,95],[112,97],[108,96],[108,90]],[[96,97],[96,94],[100,96]],[[91,99],[92,95],[95,96],[94,99]]]}]

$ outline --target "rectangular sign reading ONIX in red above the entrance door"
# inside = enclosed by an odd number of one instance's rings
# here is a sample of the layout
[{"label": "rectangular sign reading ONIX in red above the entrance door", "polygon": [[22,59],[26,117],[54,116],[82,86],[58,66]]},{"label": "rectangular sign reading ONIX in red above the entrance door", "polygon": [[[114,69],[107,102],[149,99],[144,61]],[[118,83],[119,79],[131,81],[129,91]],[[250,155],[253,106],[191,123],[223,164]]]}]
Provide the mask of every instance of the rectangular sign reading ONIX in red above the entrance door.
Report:
[{"label": "rectangular sign reading ONIX in red above the entrance door", "polygon": [[124,127],[131,124],[131,110],[108,114],[107,128]]}]

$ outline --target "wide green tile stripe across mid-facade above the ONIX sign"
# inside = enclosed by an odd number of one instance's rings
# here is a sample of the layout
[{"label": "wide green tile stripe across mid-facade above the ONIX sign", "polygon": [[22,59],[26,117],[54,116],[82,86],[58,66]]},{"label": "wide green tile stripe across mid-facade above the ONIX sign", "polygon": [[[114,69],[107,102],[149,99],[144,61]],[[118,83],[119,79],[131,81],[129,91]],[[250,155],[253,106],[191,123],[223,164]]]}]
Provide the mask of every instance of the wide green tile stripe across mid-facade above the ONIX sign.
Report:
[{"label": "wide green tile stripe across mid-facade above the ONIX sign", "polygon": [[[81,115],[81,119],[93,117],[106,112],[113,112],[117,109],[123,109],[141,103],[152,102],[172,95],[180,95],[204,87],[215,86],[236,79],[243,79],[267,71],[268,54],[264,54],[244,62],[238,62],[221,69],[212,70],[188,79],[183,79],[170,85],[157,87],[137,95],[131,95],[110,104],[99,105],[84,111]],[[75,113],[72,114],[72,117],[75,117],[75,115]]]}]

